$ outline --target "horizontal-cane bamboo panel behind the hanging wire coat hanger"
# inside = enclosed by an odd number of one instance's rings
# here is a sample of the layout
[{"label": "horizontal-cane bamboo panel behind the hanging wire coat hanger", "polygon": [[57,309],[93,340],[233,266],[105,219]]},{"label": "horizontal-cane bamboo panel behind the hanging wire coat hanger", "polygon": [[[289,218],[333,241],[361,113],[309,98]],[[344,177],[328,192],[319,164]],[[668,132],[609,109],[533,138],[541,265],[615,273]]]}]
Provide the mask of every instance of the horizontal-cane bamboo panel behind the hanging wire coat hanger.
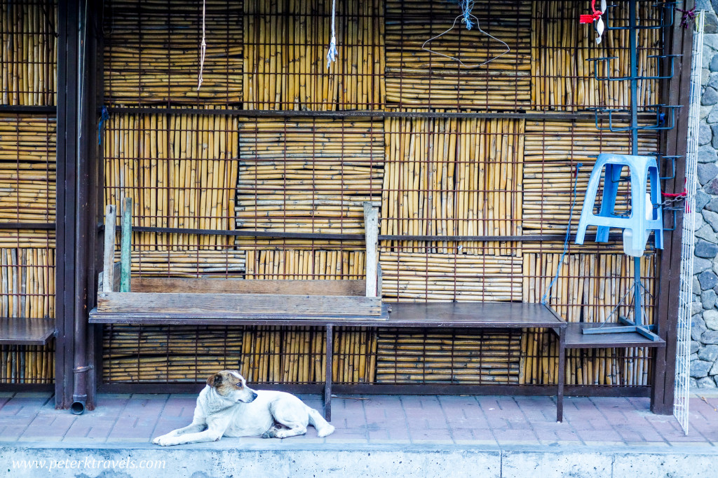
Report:
[{"label": "horizontal-cane bamboo panel behind the hanging wire coat hanger", "polygon": [[476,1],[472,13],[483,32],[467,30],[451,4],[386,1],[387,106],[531,106],[531,2]]}]

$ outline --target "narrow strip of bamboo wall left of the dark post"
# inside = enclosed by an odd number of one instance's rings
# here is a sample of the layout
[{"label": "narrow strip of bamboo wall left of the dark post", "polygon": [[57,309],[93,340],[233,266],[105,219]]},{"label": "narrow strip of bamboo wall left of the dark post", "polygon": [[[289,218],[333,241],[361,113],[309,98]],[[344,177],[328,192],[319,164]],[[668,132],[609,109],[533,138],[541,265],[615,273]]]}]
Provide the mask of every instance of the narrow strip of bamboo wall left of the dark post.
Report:
[{"label": "narrow strip of bamboo wall left of the dark post", "polygon": [[[55,106],[55,1],[0,5],[1,106]],[[0,114],[0,317],[55,317],[55,145],[52,116]],[[46,347],[0,346],[0,384],[52,383]]]}]

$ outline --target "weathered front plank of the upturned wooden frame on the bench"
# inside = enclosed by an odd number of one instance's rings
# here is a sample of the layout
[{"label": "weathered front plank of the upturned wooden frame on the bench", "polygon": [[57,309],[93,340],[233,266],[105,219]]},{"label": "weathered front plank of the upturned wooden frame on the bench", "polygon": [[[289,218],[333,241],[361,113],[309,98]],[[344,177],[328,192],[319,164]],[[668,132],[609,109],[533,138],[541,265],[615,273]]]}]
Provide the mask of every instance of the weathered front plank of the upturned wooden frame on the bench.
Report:
[{"label": "weathered front plank of the upturned wooden frame on the bench", "polygon": [[163,312],[202,314],[241,311],[241,314],[320,316],[372,316],[381,314],[378,297],[293,296],[289,294],[151,294],[103,292],[98,294],[101,312]]}]

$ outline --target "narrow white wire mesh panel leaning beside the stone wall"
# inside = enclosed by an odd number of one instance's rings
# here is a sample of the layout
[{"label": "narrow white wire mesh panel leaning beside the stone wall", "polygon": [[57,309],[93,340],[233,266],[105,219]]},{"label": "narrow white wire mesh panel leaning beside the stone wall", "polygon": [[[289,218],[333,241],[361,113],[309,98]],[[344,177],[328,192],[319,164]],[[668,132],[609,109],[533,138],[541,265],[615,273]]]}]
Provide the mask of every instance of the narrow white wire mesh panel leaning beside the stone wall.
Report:
[{"label": "narrow white wire mesh panel leaning beside the stone wall", "polygon": [[696,214],[696,168],[698,166],[698,120],[701,100],[701,65],[703,63],[704,14],[698,16],[693,37],[691,65],[691,98],[686,148],[686,215],[683,220],[681,248],[681,296],[678,311],[678,347],[676,353],[676,390],[673,395],[673,415],[688,434],[688,393],[691,355],[691,301],[693,300],[693,245]]}]

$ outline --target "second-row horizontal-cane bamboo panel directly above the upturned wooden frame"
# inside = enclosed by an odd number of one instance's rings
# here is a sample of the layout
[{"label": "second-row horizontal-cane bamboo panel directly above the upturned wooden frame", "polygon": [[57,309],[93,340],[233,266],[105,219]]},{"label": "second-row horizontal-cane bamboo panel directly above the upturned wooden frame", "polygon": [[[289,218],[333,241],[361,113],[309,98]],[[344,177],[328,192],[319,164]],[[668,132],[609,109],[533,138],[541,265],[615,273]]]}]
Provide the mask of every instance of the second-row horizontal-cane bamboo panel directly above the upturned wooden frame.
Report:
[{"label": "second-row horizontal-cane bamboo panel directly above the upturned wooden frame", "polygon": [[239,132],[236,227],[364,233],[363,202],[382,192],[381,121],[261,119]]}]

